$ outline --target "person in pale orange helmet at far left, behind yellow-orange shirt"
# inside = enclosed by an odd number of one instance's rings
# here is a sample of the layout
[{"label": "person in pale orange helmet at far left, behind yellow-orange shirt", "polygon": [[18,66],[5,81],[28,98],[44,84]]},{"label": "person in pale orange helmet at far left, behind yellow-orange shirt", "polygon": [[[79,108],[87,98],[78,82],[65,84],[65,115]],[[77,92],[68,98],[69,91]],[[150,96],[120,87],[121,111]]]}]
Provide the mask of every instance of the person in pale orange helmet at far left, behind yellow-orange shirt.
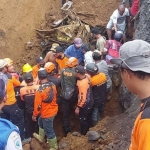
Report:
[{"label": "person in pale orange helmet at far left, behind yellow-orange shirt", "polygon": [[19,74],[14,69],[13,61],[10,58],[4,58],[4,61],[7,63],[8,73],[10,73],[12,76],[14,76],[17,80],[20,80]]}]

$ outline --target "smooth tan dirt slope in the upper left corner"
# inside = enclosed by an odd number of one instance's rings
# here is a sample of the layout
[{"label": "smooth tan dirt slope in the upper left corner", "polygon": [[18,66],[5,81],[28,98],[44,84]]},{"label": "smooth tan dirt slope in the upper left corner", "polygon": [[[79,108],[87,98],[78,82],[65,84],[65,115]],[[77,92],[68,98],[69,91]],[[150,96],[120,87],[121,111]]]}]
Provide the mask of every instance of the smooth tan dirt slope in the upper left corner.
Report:
[{"label": "smooth tan dirt slope in the upper left corner", "polygon": [[[24,45],[35,35],[34,28],[55,7],[54,0],[0,0],[0,57],[13,60],[26,54]],[[22,59],[22,58],[19,58]],[[28,60],[26,60],[28,61]]]}]

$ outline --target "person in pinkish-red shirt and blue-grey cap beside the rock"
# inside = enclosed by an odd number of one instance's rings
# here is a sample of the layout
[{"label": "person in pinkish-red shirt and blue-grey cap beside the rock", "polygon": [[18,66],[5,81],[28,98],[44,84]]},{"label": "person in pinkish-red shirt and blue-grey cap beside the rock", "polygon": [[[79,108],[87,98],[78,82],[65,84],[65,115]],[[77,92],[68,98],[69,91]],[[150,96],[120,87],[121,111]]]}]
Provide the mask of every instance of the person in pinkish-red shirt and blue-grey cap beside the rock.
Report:
[{"label": "person in pinkish-red shirt and blue-grey cap beside the rock", "polygon": [[114,40],[108,40],[107,44],[104,48],[103,55],[106,55],[105,59],[108,64],[110,64],[110,60],[112,58],[118,58],[119,57],[119,49],[121,47],[121,40],[123,37],[123,33],[116,32],[114,34]]}]

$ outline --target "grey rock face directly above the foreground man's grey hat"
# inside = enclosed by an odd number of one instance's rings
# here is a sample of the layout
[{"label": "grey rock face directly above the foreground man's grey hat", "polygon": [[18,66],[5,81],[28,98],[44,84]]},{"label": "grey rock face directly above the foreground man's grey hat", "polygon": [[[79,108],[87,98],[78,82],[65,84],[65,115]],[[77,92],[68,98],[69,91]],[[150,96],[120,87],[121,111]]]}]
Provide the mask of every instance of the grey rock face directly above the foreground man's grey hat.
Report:
[{"label": "grey rock face directly above the foreground man's grey hat", "polygon": [[141,0],[135,39],[142,39],[150,43],[150,0]]}]

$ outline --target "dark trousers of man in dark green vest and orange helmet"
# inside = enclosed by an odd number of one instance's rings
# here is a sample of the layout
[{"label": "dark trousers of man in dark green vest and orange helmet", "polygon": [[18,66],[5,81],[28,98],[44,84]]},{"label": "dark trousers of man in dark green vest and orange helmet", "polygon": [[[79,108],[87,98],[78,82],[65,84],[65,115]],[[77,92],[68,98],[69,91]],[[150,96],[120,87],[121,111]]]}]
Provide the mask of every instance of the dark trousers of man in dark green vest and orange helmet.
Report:
[{"label": "dark trousers of man in dark green vest and orange helmet", "polygon": [[77,102],[76,98],[65,100],[62,98],[62,112],[63,112],[63,128],[65,133],[70,132],[70,110]]}]

